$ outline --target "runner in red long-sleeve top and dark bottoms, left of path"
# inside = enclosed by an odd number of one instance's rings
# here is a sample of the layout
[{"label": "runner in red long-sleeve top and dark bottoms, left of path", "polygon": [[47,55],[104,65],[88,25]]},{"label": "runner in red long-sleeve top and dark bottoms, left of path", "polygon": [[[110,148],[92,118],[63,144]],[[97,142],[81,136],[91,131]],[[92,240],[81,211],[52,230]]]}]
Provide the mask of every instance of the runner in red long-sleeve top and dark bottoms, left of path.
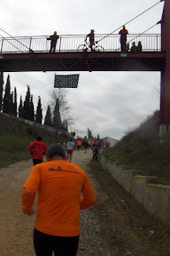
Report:
[{"label": "runner in red long-sleeve top and dark bottoms, left of path", "polygon": [[47,145],[42,142],[42,137],[38,136],[36,141],[29,144],[29,151],[33,158],[33,164],[41,164],[43,156],[46,154]]}]

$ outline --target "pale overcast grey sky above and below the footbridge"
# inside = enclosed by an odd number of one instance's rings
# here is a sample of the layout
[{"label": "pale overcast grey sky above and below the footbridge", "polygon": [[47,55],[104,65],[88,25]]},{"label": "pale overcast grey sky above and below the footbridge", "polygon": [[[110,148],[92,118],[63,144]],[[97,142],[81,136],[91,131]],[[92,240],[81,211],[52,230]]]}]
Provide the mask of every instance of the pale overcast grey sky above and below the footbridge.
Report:
[{"label": "pale overcast grey sky above and below the footbridge", "polygon": [[[1,28],[12,36],[110,34],[158,0],[1,0]],[[164,3],[164,2],[163,2]],[[129,34],[141,34],[161,20],[163,3],[127,25]],[[119,31],[114,34],[118,34]],[[160,33],[160,25],[148,33]],[[1,36],[6,36],[0,31]],[[54,74],[63,72],[9,73],[17,87],[18,100],[25,98],[27,84],[42,99],[44,114],[53,89]],[[72,130],[92,130],[94,136],[116,140],[137,127],[159,109],[159,72],[73,72],[80,74],[78,89],[69,89],[69,104],[75,117]],[[4,74],[4,81],[8,74]],[[24,99],[23,99],[24,100]],[[71,127],[69,127],[71,129]],[[82,133],[81,133],[82,134]],[[79,134],[80,135],[80,134]]]}]

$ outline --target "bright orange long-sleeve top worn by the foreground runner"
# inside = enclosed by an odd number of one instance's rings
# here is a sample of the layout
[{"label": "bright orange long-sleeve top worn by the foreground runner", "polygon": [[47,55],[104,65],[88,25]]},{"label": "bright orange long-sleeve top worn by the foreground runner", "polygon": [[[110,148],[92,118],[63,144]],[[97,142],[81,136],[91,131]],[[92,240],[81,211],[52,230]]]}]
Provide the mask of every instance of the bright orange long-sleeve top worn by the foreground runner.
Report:
[{"label": "bright orange long-sleeve top worn by the foreground runner", "polygon": [[66,160],[36,164],[24,185],[23,213],[31,212],[36,191],[35,228],[51,236],[79,236],[80,210],[97,203],[86,173]]}]

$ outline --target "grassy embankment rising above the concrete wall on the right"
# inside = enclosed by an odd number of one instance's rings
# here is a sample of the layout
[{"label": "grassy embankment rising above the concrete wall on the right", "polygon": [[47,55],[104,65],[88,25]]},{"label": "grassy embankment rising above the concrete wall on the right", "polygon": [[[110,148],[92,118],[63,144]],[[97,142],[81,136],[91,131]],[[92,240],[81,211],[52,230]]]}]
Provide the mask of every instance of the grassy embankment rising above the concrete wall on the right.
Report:
[{"label": "grassy embankment rising above the concrete wall on the right", "polygon": [[129,165],[146,175],[155,175],[158,181],[170,185],[170,138],[160,141],[159,112],[128,132],[116,146],[104,149],[104,156],[118,164]]}]

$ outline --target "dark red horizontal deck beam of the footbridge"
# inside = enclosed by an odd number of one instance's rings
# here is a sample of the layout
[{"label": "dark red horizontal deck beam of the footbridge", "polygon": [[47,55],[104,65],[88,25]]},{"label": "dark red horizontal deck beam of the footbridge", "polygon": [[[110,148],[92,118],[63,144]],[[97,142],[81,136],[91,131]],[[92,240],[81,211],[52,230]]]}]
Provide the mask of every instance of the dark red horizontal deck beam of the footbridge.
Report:
[{"label": "dark red horizontal deck beam of the footbridge", "polygon": [[161,71],[165,52],[28,52],[0,55],[1,72]]}]

